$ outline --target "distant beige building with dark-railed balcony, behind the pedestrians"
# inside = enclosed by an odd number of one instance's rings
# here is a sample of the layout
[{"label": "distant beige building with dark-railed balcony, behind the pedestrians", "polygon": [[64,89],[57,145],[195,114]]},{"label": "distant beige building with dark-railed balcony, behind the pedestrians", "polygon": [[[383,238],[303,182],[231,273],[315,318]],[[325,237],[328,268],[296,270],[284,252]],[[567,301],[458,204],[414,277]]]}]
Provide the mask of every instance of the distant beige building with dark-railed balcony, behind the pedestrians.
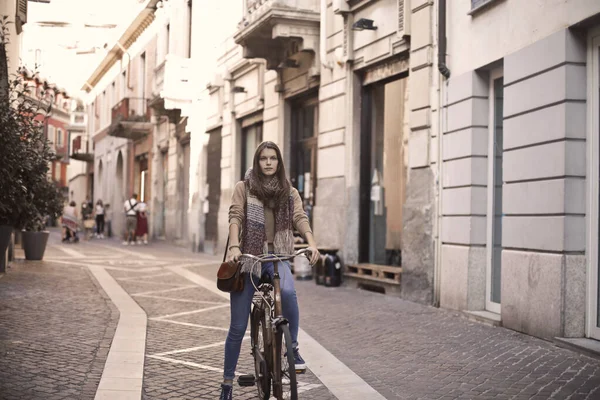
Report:
[{"label": "distant beige building with dark-railed balcony, behind the pedestrians", "polygon": [[[140,4],[138,13],[111,44],[104,59],[84,83],[88,92],[88,132],[93,141],[94,203],[109,207],[112,234],[125,229],[123,204],[132,193],[152,207],[154,117],[150,107],[156,65],[158,0]],[[149,221],[152,232],[153,220]]]}]

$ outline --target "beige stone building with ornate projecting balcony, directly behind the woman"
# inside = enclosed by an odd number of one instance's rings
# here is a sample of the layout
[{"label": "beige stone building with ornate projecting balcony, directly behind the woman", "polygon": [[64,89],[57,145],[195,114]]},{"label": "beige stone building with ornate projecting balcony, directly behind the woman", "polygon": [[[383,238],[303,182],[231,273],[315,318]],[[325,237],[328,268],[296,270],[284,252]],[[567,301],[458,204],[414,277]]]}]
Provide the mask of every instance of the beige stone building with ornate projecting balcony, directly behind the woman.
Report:
[{"label": "beige stone building with ornate projecting balcony, directly behind the woman", "polygon": [[230,3],[225,21],[241,5],[237,28],[216,54],[202,111],[205,247],[222,251],[233,187],[257,144],[272,140],[320,247],[370,270],[402,264],[403,295],[433,301],[433,5]]}]

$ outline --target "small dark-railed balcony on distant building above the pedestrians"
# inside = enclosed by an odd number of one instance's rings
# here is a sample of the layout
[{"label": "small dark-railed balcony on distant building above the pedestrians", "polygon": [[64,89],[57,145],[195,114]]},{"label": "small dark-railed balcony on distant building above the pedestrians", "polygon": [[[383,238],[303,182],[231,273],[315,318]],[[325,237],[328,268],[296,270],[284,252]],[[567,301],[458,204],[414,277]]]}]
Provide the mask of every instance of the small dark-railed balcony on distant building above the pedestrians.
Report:
[{"label": "small dark-railed balcony on distant building above the pedestrians", "polygon": [[147,99],[125,97],[112,108],[108,134],[138,140],[152,133],[151,109]]}]

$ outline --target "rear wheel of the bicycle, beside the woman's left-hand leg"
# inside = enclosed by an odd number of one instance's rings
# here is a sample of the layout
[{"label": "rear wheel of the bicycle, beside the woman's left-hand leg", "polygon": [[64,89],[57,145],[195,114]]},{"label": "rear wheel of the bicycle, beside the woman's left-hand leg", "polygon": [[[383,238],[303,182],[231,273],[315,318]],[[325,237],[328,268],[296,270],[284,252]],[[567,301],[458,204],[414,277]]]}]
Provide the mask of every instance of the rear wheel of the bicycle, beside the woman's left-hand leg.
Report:
[{"label": "rear wheel of the bicycle, beside the woman's left-hand leg", "polygon": [[254,373],[258,397],[269,400],[271,395],[271,372],[267,357],[271,354],[269,345],[266,343],[265,312],[259,307],[253,307],[250,314],[250,340],[252,342],[252,356],[254,357]]}]

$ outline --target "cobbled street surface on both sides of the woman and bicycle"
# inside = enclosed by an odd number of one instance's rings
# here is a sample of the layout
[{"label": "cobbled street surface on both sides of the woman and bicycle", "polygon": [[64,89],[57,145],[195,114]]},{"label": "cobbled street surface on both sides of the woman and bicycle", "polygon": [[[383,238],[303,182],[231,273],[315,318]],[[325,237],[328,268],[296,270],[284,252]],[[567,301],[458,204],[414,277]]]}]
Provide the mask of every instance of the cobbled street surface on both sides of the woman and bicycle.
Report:
[{"label": "cobbled street surface on both sides of the woman and bicycle", "polygon": [[[0,279],[0,399],[94,398],[119,312],[88,266],[147,315],[142,398],[218,398],[229,323],[227,299],[209,286],[218,263],[160,243],[65,246],[53,234],[44,262],[15,262]],[[600,362],[552,343],[348,287],[297,290],[302,329],[383,398],[600,398]],[[302,340],[313,370],[300,398],[346,400]],[[249,341],[238,372],[253,373]],[[236,384],[234,398],[255,388]]]}]

